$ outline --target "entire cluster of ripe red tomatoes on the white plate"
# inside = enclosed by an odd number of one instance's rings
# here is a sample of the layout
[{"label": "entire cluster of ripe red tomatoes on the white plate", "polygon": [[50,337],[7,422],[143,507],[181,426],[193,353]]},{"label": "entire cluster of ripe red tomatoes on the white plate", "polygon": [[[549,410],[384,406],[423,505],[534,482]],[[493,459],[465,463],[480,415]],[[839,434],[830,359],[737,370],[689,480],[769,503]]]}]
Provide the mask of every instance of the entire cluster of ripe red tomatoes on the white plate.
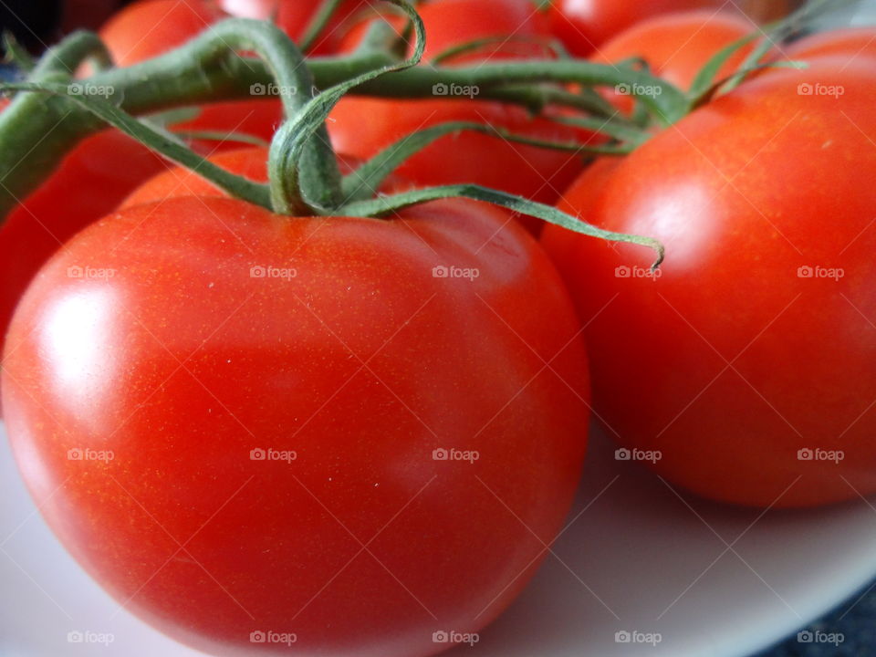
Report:
[{"label": "entire cluster of ripe red tomatoes on the white plate", "polygon": [[[340,57],[375,20],[404,35],[366,5],[340,3],[311,52]],[[560,39],[687,91],[737,47],[682,120],[643,125],[627,154],[464,132],[379,190],[475,183],[556,203],[656,238],[658,268],[640,245],[472,200],[288,217],[116,130],[80,143],[0,233],[5,419],[57,537],[117,600],[205,652],[408,657],[476,636],[525,586],[575,493],[591,410],[714,500],[876,492],[876,38],[778,44],[734,87],[756,26],[715,5],[424,3],[426,58],[451,68],[553,61]],[[101,36],[127,66],[229,15],[301,39],[317,6],[141,0]],[[601,92],[639,120],[629,93]],[[328,120],[341,172],[451,120],[611,142],[568,108],[453,95],[341,99]],[[281,120],[278,99],[254,98],[170,129],[266,183],[267,149],[234,133],[269,140]]]}]

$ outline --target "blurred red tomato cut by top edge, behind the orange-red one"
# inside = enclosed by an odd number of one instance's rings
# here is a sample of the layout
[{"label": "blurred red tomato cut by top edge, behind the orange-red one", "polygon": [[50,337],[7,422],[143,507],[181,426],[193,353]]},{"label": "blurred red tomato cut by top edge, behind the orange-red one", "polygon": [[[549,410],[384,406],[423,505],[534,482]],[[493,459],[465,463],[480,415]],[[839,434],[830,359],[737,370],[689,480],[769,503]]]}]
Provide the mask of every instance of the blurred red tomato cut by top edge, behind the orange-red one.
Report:
[{"label": "blurred red tomato cut by top edge, behind the orange-red one", "polygon": [[555,0],[550,16],[554,34],[572,54],[584,57],[644,18],[722,5],[721,0]]}]

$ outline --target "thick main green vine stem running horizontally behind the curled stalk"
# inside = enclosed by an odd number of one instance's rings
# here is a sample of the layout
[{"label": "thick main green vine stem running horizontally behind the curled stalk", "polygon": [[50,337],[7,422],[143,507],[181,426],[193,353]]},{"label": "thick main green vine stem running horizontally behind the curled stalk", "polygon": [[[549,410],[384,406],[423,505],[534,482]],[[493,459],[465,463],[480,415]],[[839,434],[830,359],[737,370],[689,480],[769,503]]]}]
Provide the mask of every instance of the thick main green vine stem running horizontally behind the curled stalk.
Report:
[{"label": "thick main green vine stem running horizontally behind the curled stalk", "polygon": [[[79,82],[93,89],[111,89],[112,99],[120,110],[135,115],[211,101],[252,98],[253,85],[266,86],[273,82],[271,68],[253,57],[239,57],[227,44],[217,42],[214,37],[217,33],[227,40],[234,31],[231,26],[224,25],[213,26],[212,30],[162,57],[129,68],[102,70]],[[81,58],[80,39],[93,38],[70,36],[54,49],[51,57],[57,57],[57,51],[61,51],[68,53],[71,61]],[[248,42],[243,40],[235,45],[243,43]],[[42,64],[41,60],[39,66]],[[318,89],[328,89],[365,73],[399,66],[398,57],[377,49],[360,49],[349,57],[308,60],[309,71]],[[29,81],[39,80],[31,78]],[[558,96],[556,87],[543,84],[546,82],[609,87],[623,84],[633,93],[640,89],[646,94],[650,91],[652,95],[642,95],[641,99],[662,122],[680,119],[688,107],[688,101],[679,89],[647,73],[573,60],[509,61],[462,68],[408,68],[381,78],[362,78],[355,92],[384,98],[430,98],[434,97],[434,89],[439,85],[448,88],[451,85],[476,86],[478,99],[498,99],[539,108],[563,99]],[[589,102],[585,95],[577,98]],[[100,120],[71,99],[34,94],[16,97],[0,113],[0,141],[4,144],[0,149],[0,216],[8,214],[19,199],[25,198],[46,180],[78,141],[102,126]],[[335,193],[335,183],[331,182],[334,174],[328,163],[324,164],[329,193],[324,189],[316,194],[315,201],[330,205],[326,196]]]}]

